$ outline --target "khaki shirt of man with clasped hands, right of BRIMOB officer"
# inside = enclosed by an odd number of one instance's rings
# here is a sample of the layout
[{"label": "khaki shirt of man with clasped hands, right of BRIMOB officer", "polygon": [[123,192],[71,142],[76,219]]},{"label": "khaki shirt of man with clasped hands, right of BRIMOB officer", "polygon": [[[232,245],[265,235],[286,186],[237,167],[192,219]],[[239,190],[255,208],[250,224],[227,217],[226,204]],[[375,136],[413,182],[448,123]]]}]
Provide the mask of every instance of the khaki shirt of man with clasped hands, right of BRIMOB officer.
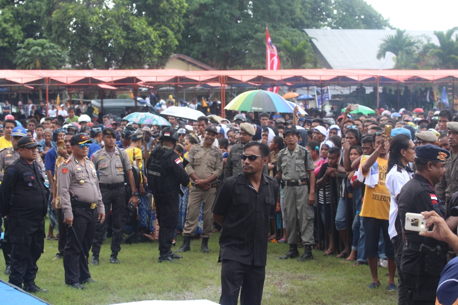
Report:
[{"label": "khaki shirt of man with clasped hands, right of BRIMOB officer", "polygon": [[[204,143],[192,146],[189,150],[188,160],[189,164],[186,166],[188,175],[195,173],[200,179],[207,179],[212,174],[219,177],[222,173],[222,153],[219,148],[213,145],[210,148],[204,148]],[[191,182],[195,183],[192,178]]]}]

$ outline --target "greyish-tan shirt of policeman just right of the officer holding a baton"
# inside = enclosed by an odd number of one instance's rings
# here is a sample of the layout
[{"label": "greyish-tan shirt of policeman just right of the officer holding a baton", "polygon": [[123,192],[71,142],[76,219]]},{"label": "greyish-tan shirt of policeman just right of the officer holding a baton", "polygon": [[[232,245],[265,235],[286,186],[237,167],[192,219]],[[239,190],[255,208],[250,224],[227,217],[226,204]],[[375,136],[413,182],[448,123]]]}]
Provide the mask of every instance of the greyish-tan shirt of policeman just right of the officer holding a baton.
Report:
[{"label": "greyish-tan shirt of policeman just right of the officer holding a baton", "polygon": [[113,157],[110,157],[105,148],[97,150],[92,155],[96,170],[99,171],[100,183],[113,184],[124,182],[124,169],[121,158],[124,160],[126,171],[131,170],[132,165],[130,165],[129,156],[127,156],[126,150],[122,148],[115,148]]}]

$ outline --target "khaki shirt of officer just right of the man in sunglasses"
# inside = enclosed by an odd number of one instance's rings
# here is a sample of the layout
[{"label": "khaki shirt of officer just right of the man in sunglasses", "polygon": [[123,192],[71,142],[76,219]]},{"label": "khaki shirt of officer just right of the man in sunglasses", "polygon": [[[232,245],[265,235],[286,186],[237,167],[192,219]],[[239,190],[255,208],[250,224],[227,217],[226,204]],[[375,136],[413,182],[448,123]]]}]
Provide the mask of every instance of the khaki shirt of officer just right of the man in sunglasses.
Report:
[{"label": "khaki shirt of officer just right of the man in sunglasses", "polygon": [[[307,164],[305,164],[305,155],[307,155]],[[310,151],[299,144],[296,144],[293,154],[290,153],[288,146],[278,153],[277,170],[282,173],[281,178],[284,181],[308,178],[307,171],[313,169],[315,167]]]}]

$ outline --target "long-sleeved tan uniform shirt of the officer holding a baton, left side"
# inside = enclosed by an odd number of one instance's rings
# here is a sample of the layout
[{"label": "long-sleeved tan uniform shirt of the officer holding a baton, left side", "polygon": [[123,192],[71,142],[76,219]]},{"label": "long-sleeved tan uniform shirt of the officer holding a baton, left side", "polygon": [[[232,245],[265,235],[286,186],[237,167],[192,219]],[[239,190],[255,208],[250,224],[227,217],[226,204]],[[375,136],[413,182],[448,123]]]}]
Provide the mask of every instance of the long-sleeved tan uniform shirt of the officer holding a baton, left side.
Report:
[{"label": "long-sleeved tan uniform shirt of the officer holding a baton, left side", "polygon": [[[98,203],[98,214],[105,213],[102,194],[97,180],[97,171],[89,159],[84,160],[84,166],[72,155],[59,166],[58,169],[59,194],[61,197],[64,218],[73,218],[70,191],[79,201]],[[81,183],[82,181],[82,183]]]}]

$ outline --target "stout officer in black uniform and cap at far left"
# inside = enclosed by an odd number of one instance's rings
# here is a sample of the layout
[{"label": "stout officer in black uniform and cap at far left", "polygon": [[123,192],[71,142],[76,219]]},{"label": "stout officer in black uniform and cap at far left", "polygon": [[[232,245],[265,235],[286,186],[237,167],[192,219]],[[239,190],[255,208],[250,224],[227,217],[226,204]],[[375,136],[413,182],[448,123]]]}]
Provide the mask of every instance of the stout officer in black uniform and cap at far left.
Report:
[{"label": "stout officer in black uniform and cap at far left", "polygon": [[46,292],[35,285],[49,196],[42,169],[35,161],[37,146],[30,137],[18,141],[20,157],[8,167],[0,186],[0,213],[8,218],[11,241],[9,282],[28,292]]}]

